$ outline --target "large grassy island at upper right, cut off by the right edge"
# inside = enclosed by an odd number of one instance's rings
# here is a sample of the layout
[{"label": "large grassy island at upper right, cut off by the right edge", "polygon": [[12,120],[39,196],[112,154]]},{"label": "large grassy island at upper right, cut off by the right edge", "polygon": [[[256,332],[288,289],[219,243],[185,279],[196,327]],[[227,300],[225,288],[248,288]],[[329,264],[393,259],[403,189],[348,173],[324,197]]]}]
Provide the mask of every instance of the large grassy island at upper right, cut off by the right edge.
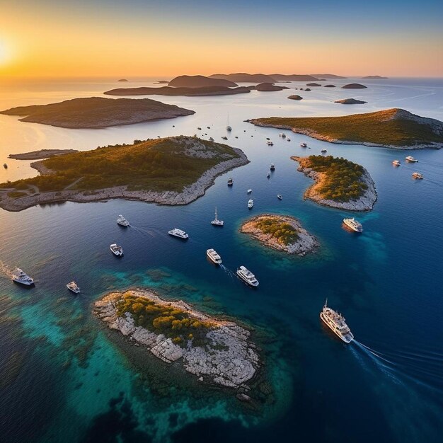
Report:
[{"label": "large grassy island at upper right, cut off by the right edge", "polygon": [[443,122],[393,108],[341,117],[267,117],[248,120],[340,144],[364,144],[393,149],[440,149]]}]

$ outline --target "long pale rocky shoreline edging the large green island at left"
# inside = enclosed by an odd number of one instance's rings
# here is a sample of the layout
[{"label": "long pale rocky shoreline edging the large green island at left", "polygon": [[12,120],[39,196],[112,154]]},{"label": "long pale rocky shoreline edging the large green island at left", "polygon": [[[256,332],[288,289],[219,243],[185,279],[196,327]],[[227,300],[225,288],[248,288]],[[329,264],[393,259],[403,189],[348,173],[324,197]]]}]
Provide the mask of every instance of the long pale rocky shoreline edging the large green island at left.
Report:
[{"label": "long pale rocky shoreline edging the large green island at left", "polygon": [[[0,207],[6,211],[18,212],[28,207],[55,202],[98,202],[100,200],[110,200],[113,198],[123,198],[125,200],[140,200],[147,203],[157,203],[159,205],[188,205],[188,203],[197,200],[198,197],[205,195],[205,192],[214,184],[215,178],[230,171],[231,169],[244,166],[249,163],[246,155],[238,148],[232,148],[238,154],[236,159],[222,161],[213,168],[208,169],[192,185],[186,186],[181,192],[164,191],[156,192],[149,190],[127,190],[126,186],[115,186],[114,188],[105,188],[101,190],[62,190],[52,192],[37,192],[35,194],[25,195],[24,197],[8,197],[11,190],[0,190]],[[31,163],[31,166],[42,174],[50,174],[41,161]]]}]

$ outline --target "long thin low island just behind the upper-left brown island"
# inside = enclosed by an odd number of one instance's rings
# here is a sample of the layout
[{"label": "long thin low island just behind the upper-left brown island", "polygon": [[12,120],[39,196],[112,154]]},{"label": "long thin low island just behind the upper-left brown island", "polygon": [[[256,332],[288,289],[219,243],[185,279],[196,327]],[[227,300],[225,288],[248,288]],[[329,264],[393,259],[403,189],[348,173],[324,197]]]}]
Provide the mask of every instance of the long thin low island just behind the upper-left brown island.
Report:
[{"label": "long thin low island just behind the upper-left brown island", "polygon": [[200,88],[173,88],[172,86],[161,86],[150,88],[141,86],[139,88],[116,88],[105,91],[107,96],[231,96],[251,92],[246,86],[229,88],[228,86],[201,86]]}]

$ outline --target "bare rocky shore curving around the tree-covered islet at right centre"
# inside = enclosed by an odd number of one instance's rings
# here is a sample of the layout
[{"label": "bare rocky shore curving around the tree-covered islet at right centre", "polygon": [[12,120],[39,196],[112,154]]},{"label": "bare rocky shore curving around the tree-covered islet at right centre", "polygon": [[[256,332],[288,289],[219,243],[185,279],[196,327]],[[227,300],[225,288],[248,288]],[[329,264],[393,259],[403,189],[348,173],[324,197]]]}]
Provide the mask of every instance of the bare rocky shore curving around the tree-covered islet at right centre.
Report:
[{"label": "bare rocky shore curving around the tree-covered islet at right centre", "polygon": [[[301,157],[292,156],[292,160],[299,161]],[[363,175],[361,181],[366,183],[367,190],[364,191],[364,195],[359,197],[358,200],[350,200],[349,202],[335,202],[334,200],[326,200],[317,191],[317,185],[321,183],[324,173],[313,171],[312,168],[303,168],[299,166],[297,171],[304,173],[305,176],[312,178],[316,183],[311,185],[305,192],[304,198],[309,198],[319,205],[334,207],[337,209],[346,209],[347,211],[370,211],[377,200],[377,194],[375,190],[375,183],[369,172],[363,168]]]}]

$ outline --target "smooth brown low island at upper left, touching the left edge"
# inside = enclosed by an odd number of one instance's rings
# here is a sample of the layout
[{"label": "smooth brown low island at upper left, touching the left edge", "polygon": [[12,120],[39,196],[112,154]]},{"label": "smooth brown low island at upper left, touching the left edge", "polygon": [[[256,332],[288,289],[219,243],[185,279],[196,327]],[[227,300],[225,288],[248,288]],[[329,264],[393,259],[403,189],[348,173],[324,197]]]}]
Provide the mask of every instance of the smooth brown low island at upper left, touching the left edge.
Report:
[{"label": "smooth brown low island at upper left, touching the left edge", "polygon": [[18,106],[0,111],[0,114],[24,116],[21,122],[42,123],[67,128],[100,128],[132,125],[180,115],[195,114],[195,111],[167,105],[150,98],[91,97],[74,98],[49,105]]}]

